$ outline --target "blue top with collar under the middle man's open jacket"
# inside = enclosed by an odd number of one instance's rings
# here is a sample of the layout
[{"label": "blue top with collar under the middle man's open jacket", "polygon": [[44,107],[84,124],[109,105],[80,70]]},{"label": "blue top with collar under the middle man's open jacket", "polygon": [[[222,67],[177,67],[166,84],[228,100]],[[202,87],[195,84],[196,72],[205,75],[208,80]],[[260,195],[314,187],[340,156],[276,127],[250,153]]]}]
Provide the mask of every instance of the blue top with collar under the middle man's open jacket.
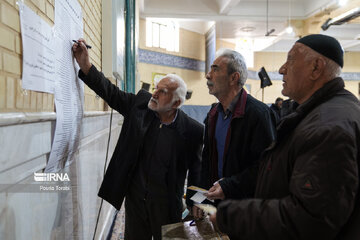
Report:
[{"label": "blue top with collar under the middle man's open jacket", "polygon": [[223,165],[224,165],[224,151],[225,151],[225,144],[226,144],[226,137],[228,134],[231,118],[235,109],[235,106],[239,100],[241,91],[234,97],[231,101],[229,107],[225,110],[221,103],[217,106],[218,117],[216,121],[216,128],[215,128],[215,139],[216,139],[216,149],[218,153],[218,175],[219,178],[223,177]]}]

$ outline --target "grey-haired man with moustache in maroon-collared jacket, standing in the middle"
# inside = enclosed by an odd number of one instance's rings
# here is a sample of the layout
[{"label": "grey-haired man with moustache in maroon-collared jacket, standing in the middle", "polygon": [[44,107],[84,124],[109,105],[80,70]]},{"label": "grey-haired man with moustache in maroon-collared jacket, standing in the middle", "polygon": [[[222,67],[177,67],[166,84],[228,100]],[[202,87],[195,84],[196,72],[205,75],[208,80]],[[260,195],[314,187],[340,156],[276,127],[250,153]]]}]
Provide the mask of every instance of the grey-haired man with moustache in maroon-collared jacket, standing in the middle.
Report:
[{"label": "grey-haired man with moustache in maroon-collared jacket, standing in the middle", "polygon": [[[201,187],[210,188],[209,199],[252,197],[258,159],[275,139],[276,118],[243,88],[247,68],[240,53],[220,50],[206,79],[219,103],[205,119]],[[194,206],[193,214],[202,212]]]}]

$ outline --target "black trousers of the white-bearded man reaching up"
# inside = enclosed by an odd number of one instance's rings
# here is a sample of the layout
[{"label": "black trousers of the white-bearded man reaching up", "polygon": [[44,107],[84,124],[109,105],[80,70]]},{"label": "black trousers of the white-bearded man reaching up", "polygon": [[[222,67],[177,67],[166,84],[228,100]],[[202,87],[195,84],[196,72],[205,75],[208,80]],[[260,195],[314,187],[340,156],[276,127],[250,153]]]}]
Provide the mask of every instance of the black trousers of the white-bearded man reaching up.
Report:
[{"label": "black trousers of the white-bearded man reaching up", "polygon": [[161,240],[161,226],[169,222],[168,204],[126,197],[125,240]]}]

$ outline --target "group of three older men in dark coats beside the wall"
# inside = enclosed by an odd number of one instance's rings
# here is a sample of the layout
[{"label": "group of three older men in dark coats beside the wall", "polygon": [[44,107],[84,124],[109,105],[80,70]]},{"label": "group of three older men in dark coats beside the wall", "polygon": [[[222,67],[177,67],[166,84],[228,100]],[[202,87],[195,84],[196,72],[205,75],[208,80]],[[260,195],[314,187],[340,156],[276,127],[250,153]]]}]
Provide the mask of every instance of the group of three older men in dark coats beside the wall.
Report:
[{"label": "group of three older men in dark coats beside the wall", "polygon": [[[243,88],[242,55],[219,51],[206,75],[218,103],[205,127],[179,108],[179,76],[153,94],[126,93],[91,64],[85,40],[72,51],[80,79],[124,116],[99,196],[116,209],[125,199],[125,239],[161,239],[162,225],[181,221],[186,177],[209,190],[210,220],[231,239],[360,239],[360,104],[344,89],[336,39],[294,44],[279,69],[289,100],[271,107]],[[191,195],[186,205],[201,219]]]}]

